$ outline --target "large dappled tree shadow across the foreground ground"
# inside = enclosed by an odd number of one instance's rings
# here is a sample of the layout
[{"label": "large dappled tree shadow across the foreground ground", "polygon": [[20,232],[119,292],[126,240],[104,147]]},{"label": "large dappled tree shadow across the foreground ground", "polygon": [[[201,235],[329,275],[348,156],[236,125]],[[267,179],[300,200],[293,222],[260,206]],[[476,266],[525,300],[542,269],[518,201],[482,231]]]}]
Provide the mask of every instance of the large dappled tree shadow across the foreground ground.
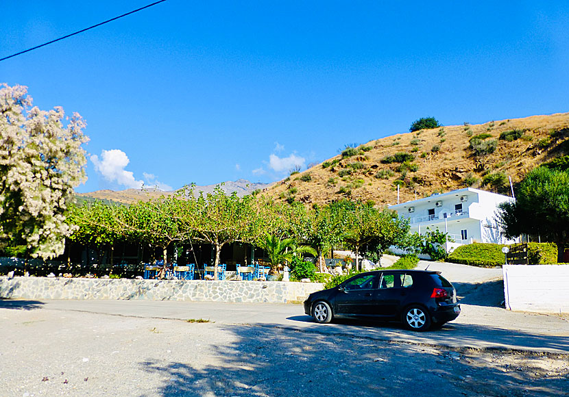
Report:
[{"label": "large dappled tree shadow across the foreground ground", "polygon": [[165,379],[158,390],[163,397],[409,396],[411,389],[415,397],[437,390],[448,396],[564,396],[569,388],[566,369],[548,372],[526,360],[520,371],[519,354],[458,353],[374,340],[365,333],[330,335],[272,325],[221,326],[231,342],[214,346],[207,362],[189,357],[187,362],[154,360],[139,366]]}]

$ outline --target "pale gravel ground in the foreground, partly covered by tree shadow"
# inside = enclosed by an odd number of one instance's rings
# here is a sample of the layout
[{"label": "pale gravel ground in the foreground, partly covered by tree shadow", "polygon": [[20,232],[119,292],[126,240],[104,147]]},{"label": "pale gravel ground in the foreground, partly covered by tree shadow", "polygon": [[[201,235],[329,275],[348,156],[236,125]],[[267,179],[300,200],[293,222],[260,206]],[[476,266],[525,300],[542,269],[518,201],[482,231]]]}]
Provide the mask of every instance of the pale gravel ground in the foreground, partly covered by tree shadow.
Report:
[{"label": "pale gravel ground in the foreground, partly covered by tree shadow", "polygon": [[0,395],[566,396],[569,355],[0,309]]}]

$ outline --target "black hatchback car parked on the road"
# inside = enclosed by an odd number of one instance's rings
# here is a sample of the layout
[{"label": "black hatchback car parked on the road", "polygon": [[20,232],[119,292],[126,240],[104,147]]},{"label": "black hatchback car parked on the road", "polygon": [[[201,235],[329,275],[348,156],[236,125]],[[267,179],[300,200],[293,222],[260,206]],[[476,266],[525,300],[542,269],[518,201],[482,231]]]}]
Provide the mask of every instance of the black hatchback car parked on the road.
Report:
[{"label": "black hatchback car parked on the road", "polygon": [[413,331],[438,328],[460,314],[457,291],[440,272],[375,270],[310,294],[304,313],[316,322],[335,317],[400,321]]}]

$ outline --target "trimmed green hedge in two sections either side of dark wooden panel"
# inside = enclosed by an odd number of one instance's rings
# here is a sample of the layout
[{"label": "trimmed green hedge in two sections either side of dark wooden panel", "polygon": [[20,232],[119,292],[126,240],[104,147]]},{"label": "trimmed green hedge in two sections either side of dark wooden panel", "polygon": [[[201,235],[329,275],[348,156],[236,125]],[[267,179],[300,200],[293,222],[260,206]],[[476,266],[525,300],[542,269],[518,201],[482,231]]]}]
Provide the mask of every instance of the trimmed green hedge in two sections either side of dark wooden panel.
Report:
[{"label": "trimmed green hedge in two sections either side of dark wooden panel", "polygon": [[[503,247],[505,247],[505,244],[480,242],[466,244],[452,251],[446,261],[455,264],[481,266],[484,268],[502,266],[505,264],[505,255],[502,252]],[[528,257],[530,264],[556,264],[557,245],[546,242],[530,242],[528,244]]]}]

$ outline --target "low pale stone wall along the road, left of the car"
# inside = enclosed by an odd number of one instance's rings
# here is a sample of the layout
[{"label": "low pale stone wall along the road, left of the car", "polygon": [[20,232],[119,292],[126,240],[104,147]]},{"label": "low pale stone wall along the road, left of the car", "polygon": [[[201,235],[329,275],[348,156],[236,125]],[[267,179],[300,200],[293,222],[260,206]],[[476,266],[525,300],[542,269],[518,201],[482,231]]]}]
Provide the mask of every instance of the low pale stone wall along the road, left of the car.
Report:
[{"label": "low pale stone wall along the road, left of the car", "polygon": [[287,303],[322,290],[322,283],[0,277],[0,298],[148,299]]}]

